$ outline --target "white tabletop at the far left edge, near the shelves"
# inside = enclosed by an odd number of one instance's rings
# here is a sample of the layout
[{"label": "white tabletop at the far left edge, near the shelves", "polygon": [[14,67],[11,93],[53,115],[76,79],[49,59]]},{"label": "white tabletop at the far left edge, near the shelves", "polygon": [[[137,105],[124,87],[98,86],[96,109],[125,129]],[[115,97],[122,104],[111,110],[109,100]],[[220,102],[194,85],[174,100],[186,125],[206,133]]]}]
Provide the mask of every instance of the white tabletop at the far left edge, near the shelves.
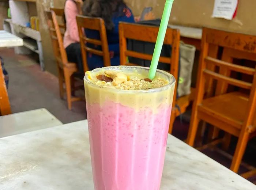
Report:
[{"label": "white tabletop at the far left edge, near the shelves", "polygon": [[23,39],[5,30],[0,30],[0,47],[23,46]]}]

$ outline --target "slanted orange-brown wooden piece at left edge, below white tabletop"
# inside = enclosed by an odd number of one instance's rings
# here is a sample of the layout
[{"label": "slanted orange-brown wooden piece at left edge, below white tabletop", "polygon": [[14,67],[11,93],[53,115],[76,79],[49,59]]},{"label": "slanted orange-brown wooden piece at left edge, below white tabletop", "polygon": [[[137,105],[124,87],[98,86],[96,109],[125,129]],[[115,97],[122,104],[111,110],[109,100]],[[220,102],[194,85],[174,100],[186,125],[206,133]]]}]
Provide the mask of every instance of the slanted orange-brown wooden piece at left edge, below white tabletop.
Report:
[{"label": "slanted orange-brown wooden piece at left edge, below white tabletop", "polygon": [[11,114],[11,106],[4,81],[3,69],[0,61],[0,115]]}]

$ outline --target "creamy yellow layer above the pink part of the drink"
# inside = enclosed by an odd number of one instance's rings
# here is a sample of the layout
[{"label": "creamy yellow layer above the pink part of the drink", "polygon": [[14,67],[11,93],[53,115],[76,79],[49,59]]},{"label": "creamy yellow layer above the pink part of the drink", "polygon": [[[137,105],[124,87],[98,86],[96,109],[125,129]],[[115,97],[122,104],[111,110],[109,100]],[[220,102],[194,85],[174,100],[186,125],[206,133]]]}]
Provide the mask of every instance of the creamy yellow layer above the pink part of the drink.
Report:
[{"label": "creamy yellow layer above the pink part of the drink", "polygon": [[86,102],[89,104],[99,103],[101,106],[105,101],[120,103],[137,111],[143,107],[150,107],[157,111],[161,104],[170,105],[173,101],[174,84],[171,88],[157,91],[125,91],[111,88],[100,88],[95,84],[84,83]]}]

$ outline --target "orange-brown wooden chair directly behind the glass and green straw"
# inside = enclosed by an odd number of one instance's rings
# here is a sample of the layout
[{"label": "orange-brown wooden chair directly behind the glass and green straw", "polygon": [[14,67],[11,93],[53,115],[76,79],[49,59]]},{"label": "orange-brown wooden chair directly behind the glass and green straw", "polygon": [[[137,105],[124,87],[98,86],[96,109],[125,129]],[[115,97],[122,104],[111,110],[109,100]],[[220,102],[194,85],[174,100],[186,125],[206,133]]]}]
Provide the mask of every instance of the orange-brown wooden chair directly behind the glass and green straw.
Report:
[{"label": "orange-brown wooden chair directly behind the glass and green straw", "polygon": [[[119,23],[119,43],[120,43],[120,64],[121,65],[137,65],[127,62],[127,57],[135,57],[143,60],[152,60],[152,54],[145,54],[127,50],[127,39],[155,43],[157,40],[159,27],[145,26],[140,24]],[[159,62],[170,64],[170,72],[176,80],[178,80],[178,61],[180,47],[180,31],[177,29],[167,28],[164,44],[172,45],[171,57],[160,57]],[[173,122],[177,116],[184,113],[191,101],[191,96],[186,95],[180,98],[177,96],[177,82],[173,97],[173,108],[170,119],[169,133],[172,133]],[[179,108],[178,108],[179,107]]]}]

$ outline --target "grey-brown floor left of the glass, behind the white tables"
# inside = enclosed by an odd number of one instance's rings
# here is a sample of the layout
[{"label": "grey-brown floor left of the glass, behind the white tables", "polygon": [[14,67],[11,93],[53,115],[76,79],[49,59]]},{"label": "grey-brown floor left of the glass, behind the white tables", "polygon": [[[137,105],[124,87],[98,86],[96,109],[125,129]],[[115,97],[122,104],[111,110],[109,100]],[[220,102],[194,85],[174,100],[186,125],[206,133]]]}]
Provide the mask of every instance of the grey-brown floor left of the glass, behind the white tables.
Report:
[{"label": "grey-brown floor left of the glass, behind the white tables", "polygon": [[13,49],[0,49],[4,66],[9,73],[8,95],[12,113],[46,108],[63,123],[86,119],[85,102],[72,103],[60,99],[56,76],[41,72],[39,64],[28,56],[15,55]]}]

